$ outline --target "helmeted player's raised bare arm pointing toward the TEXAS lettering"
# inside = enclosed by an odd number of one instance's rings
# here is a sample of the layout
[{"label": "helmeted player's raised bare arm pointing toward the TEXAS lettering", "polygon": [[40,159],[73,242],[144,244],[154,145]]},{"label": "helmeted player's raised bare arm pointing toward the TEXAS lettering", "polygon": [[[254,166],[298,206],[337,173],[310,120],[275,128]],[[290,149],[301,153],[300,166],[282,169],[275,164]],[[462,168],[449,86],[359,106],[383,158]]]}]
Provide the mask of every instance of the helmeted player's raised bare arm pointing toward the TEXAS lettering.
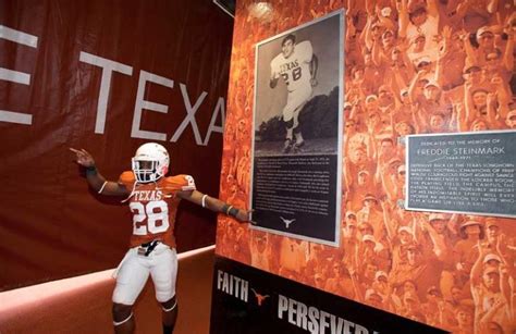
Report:
[{"label": "helmeted player's raised bare arm pointing toward the TEXAS lettering", "polygon": [[84,148],[70,148],[70,150],[75,153],[75,161],[85,168],[86,180],[95,191],[108,196],[128,196],[130,191],[124,185],[107,181],[106,177],[99,173],[95,165],[95,160],[88,151]]}]

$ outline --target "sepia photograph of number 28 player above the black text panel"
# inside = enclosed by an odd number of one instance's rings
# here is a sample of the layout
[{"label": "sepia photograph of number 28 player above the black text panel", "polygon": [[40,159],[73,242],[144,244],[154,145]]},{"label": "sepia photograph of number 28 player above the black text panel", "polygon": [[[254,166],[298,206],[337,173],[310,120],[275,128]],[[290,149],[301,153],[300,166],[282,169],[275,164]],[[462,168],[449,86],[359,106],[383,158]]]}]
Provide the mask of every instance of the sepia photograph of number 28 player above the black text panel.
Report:
[{"label": "sepia photograph of number 28 player above the black text panel", "polygon": [[256,46],[255,154],[336,153],[340,15]]}]

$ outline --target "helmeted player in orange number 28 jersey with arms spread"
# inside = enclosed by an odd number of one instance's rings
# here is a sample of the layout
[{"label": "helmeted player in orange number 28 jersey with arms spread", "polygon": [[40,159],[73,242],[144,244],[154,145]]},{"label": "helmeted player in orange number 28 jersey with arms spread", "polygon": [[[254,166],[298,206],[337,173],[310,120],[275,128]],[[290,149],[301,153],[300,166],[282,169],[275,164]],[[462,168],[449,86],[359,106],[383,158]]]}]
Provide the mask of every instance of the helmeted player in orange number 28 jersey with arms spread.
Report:
[{"label": "helmeted player in orange number 28 jersey with arms spread", "polygon": [[199,193],[189,175],[165,176],[169,153],[156,143],[142,145],[132,159],[132,171],[123,172],[118,182],[107,181],[95,160],[84,149],[70,148],[76,161],[86,169],[86,180],[98,194],[124,196],[133,213],[131,249],[115,271],[113,324],[115,333],[133,333],[133,305],[149,275],[156,298],[162,306],[163,333],[172,333],[177,318],[175,280],[177,256],[173,236],[175,213],[181,199],[189,200],[239,222],[249,221],[249,211],[237,209],[217,198]]}]

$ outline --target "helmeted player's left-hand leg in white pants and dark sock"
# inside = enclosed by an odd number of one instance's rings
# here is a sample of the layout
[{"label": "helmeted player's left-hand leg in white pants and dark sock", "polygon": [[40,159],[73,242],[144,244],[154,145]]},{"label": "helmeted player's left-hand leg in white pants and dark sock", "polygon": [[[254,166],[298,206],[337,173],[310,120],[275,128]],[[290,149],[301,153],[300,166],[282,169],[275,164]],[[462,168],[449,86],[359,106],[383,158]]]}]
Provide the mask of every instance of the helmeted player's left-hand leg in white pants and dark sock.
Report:
[{"label": "helmeted player's left-hand leg in white pants and dark sock", "polygon": [[139,259],[136,249],[130,249],[120,264],[116,286],[113,290],[113,325],[116,334],[133,333],[135,327],[133,305],[149,277],[145,259]]}]

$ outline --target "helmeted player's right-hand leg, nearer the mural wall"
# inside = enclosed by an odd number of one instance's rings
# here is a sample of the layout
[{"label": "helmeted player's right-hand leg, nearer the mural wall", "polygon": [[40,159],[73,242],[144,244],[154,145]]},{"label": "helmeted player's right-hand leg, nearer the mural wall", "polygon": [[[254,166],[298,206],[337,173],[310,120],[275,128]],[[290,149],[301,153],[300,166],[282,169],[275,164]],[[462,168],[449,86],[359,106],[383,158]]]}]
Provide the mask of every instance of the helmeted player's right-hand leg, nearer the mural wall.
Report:
[{"label": "helmeted player's right-hand leg, nearer the mural wall", "polygon": [[177,319],[175,282],[177,279],[177,253],[175,249],[160,244],[155,250],[150,275],[155,283],[156,299],[162,307],[163,334],[171,334]]}]

